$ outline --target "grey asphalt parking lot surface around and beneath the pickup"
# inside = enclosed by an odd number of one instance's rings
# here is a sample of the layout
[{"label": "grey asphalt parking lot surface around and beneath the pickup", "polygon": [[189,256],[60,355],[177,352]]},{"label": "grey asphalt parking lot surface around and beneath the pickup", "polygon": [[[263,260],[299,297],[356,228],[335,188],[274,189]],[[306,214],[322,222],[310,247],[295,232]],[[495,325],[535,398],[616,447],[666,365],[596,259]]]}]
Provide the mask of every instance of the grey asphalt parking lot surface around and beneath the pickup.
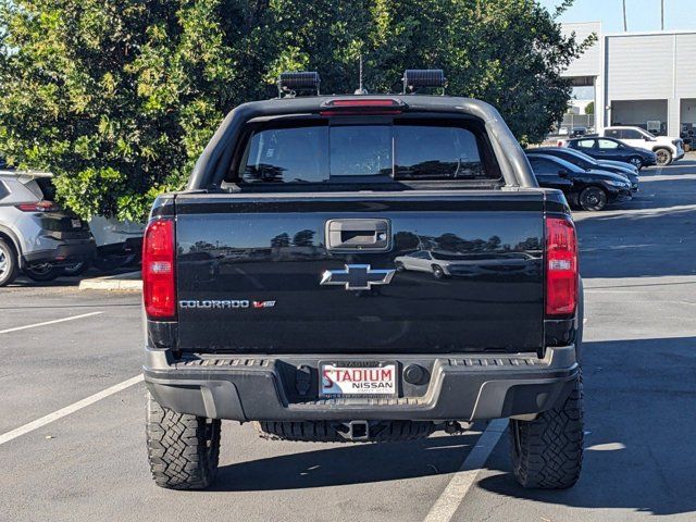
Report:
[{"label": "grey asphalt parking lot surface around and beneath the pickup", "polygon": [[[412,443],[331,445],[264,442],[229,422],[212,490],[160,489],[145,452],[139,296],[18,279],[0,289],[0,521],[696,520],[689,156],[644,171],[630,203],[576,214],[587,433],[573,489],[520,488],[507,435],[488,455],[484,425]],[[482,471],[469,471],[481,455]]]}]

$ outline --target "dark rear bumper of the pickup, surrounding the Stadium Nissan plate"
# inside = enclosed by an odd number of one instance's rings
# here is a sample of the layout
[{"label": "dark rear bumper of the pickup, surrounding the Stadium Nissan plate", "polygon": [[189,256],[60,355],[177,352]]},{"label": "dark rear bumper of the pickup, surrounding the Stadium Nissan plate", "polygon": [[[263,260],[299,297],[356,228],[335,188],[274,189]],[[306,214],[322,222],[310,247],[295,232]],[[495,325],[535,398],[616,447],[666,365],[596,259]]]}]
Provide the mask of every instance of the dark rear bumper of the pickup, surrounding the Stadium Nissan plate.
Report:
[{"label": "dark rear bumper of the pickup, surrounding the Stadium Nissan plate", "polygon": [[[397,399],[316,397],[320,360],[371,359],[396,359],[401,370],[420,364],[430,378],[409,385],[399,377]],[[296,380],[301,368],[309,375],[303,382]],[[210,356],[184,362],[173,362],[169,350],[148,348],[144,366],[148,389],[162,406],[236,421],[470,421],[533,414],[564,399],[579,372],[574,346],[548,348],[544,359],[526,355]]]}]

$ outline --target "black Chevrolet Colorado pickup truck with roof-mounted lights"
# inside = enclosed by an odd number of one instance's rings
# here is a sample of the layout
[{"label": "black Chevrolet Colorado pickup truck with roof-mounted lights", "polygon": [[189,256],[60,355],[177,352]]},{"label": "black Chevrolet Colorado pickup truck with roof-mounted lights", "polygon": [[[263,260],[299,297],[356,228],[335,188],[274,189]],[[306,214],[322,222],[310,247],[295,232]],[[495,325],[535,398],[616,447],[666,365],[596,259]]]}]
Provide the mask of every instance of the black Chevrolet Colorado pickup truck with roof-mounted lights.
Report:
[{"label": "black Chevrolet Colorado pickup truck with roof-mounted lights", "polygon": [[142,274],[160,486],[212,483],[223,419],[265,438],[386,442],[509,418],[523,486],[579,478],[575,228],[484,102],[237,107],[187,189],[157,199]]}]

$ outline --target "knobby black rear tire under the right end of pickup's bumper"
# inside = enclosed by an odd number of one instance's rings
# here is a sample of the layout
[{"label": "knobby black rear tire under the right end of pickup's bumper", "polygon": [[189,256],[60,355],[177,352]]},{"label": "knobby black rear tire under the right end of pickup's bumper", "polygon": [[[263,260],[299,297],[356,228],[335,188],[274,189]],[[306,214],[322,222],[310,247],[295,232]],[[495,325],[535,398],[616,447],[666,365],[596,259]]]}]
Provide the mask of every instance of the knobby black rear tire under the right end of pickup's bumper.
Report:
[{"label": "knobby black rear tire under the right end of pickup's bumper", "polygon": [[566,489],[583,464],[582,374],[568,398],[533,421],[510,421],[512,471],[523,487]]}]

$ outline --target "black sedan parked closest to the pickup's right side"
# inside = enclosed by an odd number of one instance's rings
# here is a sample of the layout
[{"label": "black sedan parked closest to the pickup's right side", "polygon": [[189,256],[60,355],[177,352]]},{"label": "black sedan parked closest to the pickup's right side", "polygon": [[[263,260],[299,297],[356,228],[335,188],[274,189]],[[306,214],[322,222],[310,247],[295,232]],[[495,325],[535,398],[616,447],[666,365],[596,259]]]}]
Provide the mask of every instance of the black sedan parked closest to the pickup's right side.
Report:
[{"label": "black sedan parked closest to the pickup's right side", "polygon": [[586,171],[550,154],[529,154],[539,186],[562,190],[568,201],[583,210],[602,210],[607,204],[632,198],[630,182],[607,171]]}]

